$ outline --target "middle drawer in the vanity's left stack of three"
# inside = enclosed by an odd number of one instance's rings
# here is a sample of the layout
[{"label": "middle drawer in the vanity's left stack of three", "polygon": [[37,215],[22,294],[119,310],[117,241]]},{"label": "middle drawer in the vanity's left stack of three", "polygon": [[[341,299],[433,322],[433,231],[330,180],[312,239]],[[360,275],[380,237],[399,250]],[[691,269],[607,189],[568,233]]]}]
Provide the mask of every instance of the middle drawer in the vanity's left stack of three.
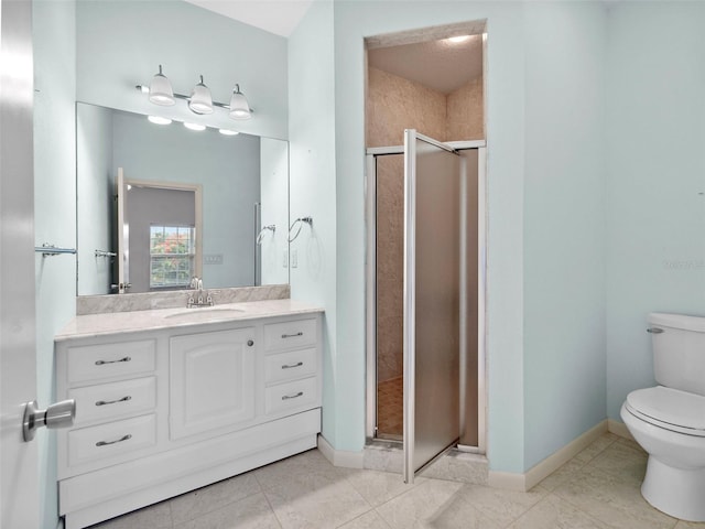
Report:
[{"label": "middle drawer in the vanity's left stack of three", "polygon": [[149,411],[156,404],[156,378],[135,378],[75,388],[68,391],[68,398],[76,400],[77,425],[137,414]]}]

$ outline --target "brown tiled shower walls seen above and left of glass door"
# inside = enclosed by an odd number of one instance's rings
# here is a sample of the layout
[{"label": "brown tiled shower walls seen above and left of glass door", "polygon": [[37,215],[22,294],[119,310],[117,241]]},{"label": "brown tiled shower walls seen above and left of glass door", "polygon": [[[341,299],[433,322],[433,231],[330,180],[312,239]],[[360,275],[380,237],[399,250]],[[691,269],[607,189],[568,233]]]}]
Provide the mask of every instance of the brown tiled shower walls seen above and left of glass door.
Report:
[{"label": "brown tiled shower walls seen above and left of glass door", "polygon": [[[485,137],[481,79],[445,95],[370,67],[367,94],[367,147],[401,145],[404,129],[440,141]],[[404,166],[402,155],[377,162],[378,431],[401,435]]]}]

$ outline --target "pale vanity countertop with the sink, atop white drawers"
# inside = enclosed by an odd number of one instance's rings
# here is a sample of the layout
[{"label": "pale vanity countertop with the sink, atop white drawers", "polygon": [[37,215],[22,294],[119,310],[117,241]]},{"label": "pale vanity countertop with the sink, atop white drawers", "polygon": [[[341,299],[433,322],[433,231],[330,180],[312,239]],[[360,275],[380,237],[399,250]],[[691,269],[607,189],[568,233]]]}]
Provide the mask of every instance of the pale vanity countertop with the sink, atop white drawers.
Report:
[{"label": "pale vanity countertop with the sink, atop white drawers", "polygon": [[323,312],[310,303],[285,300],[224,303],[214,306],[159,309],[76,316],[59,331],[56,342],[105,334],[155,331],[208,323],[239,322],[261,317],[293,316]]}]

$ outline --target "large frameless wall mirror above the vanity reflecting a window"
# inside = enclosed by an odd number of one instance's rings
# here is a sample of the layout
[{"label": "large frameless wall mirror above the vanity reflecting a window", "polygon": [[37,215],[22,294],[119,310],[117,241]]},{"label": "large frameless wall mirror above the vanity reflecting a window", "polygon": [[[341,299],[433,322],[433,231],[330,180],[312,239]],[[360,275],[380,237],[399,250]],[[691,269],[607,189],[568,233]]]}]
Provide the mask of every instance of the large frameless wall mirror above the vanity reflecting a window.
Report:
[{"label": "large frameless wall mirror above the vanity reflecting a window", "polygon": [[286,141],[83,102],[76,133],[78,295],[289,282]]}]

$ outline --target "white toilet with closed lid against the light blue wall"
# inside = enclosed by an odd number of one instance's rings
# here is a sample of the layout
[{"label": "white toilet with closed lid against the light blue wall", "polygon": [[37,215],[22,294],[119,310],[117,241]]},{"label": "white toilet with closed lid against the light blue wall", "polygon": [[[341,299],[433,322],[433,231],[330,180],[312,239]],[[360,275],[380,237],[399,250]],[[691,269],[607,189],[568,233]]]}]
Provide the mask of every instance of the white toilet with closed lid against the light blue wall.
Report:
[{"label": "white toilet with closed lid against the light blue wall", "polygon": [[620,413],[649,453],[641,494],[666,515],[705,521],[705,317],[648,321],[660,386],[629,393]]}]

